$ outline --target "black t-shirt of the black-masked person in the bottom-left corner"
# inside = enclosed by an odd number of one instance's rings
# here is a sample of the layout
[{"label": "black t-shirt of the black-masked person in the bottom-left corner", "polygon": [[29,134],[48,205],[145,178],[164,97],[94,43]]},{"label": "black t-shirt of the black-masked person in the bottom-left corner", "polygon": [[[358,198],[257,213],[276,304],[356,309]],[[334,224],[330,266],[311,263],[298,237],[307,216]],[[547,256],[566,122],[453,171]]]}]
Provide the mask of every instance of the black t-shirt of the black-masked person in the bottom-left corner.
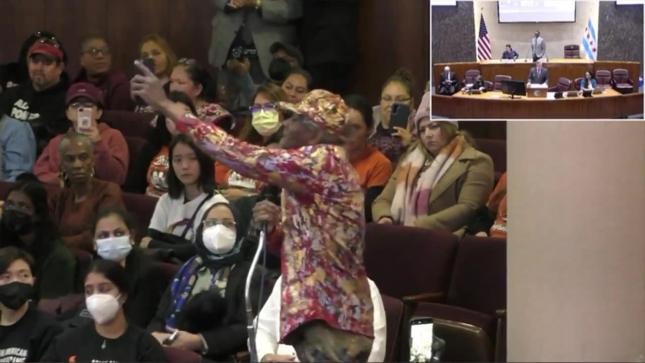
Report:
[{"label": "black t-shirt of the black-masked person in the bottom-left corner", "polygon": [[63,331],[54,316],[30,303],[25,315],[10,326],[0,326],[0,362],[41,362],[56,335]]}]

